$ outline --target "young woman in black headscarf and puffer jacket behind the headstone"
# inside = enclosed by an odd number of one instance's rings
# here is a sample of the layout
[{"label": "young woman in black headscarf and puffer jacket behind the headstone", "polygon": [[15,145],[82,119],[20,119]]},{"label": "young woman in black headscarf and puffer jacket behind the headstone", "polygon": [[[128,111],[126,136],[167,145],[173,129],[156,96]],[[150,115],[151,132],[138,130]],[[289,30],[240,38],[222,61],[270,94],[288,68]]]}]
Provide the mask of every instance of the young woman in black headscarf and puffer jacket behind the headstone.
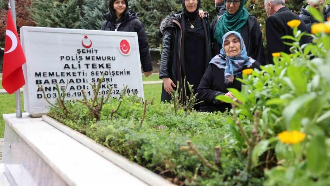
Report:
[{"label": "young woman in black headscarf and puffer jacket behind the headstone", "polygon": [[152,72],[151,56],[149,51],[148,37],[137,14],[128,10],[127,0],[109,0],[109,12],[104,15],[101,30],[118,32],[137,32],[139,40],[140,58],[142,69],[146,77]]}]

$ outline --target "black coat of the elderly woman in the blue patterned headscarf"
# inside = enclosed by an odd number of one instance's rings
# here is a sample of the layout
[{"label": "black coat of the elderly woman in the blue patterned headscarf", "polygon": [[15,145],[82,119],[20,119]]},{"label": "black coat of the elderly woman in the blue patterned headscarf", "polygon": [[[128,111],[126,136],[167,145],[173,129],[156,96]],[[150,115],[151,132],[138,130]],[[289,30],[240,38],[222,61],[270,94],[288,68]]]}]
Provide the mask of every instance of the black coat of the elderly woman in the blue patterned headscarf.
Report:
[{"label": "black coat of the elderly woman in the blue patterned headscarf", "polygon": [[[259,66],[260,63],[255,61],[250,68],[259,69]],[[244,69],[247,69],[247,67],[242,70]],[[230,109],[231,105],[229,103],[216,101],[215,97],[228,93],[228,88],[241,91],[242,83],[237,81],[236,78],[242,78],[242,73],[234,76],[234,81],[231,84],[225,84],[224,69],[219,69],[215,64],[210,64],[197,89],[198,98],[204,101],[200,104],[200,110],[202,112],[224,112],[226,109]]]}]

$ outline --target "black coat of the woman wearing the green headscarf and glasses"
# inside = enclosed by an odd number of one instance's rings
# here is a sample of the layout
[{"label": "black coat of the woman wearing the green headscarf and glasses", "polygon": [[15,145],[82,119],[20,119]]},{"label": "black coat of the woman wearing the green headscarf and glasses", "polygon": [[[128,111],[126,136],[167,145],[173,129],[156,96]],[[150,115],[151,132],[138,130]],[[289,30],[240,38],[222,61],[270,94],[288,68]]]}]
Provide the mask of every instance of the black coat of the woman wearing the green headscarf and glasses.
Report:
[{"label": "black coat of the woman wearing the green headscarf and glasses", "polygon": [[[222,10],[223,14],[223,9]],[[214,38],[214,33],[216,29],[216,25],[219,22],[220,17],[218,15],[215,20],[211,23],[211,45],[212,45],[212,57],[220,54],[220,50],[222,49],[222,45],[219,44]],[[244,40],[244,44],[246,46],[248,56],[252,57],[256,61],[259,61],[262,65],[266,65],[265,59],[265,51],[264,51],[264,43],[262,41],[262,33],[258,23],[258,20],[255,16],[249,14],[247,23],[243,26],[241,36]]]}]

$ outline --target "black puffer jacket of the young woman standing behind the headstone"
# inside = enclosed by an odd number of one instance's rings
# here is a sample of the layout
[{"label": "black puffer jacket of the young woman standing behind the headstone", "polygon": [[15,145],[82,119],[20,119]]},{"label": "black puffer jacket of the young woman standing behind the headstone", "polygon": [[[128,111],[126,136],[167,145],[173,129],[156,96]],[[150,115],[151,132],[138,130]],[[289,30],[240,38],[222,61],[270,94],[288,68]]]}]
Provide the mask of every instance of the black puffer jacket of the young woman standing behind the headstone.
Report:
[{"label": "black puffer jacket of the young woman standing behind the headstone", "polygon": [[[115,31],[115,23],[110,13],[104,15],[106,21],[103,22],[101,30]],[[139,21],[135,12],[126,11],[124,21],[119,25],[117,31],[138,33],[141,64],[144,72],[152,71],[151,56],[149,51],[148,37],[144,26]]]}]

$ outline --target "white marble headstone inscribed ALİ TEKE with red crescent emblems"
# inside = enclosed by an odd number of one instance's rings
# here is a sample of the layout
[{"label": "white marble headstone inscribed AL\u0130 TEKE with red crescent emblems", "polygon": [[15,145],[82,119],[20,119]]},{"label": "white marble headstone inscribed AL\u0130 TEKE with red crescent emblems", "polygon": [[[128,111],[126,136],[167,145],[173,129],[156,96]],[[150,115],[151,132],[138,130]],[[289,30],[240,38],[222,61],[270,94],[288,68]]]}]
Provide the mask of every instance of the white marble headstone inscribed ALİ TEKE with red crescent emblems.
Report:
[{"label": "white marble headstone inscribed AL\u0130 TEKE with red crescent emblems", "polygon": [[110,85],[112,97],[128,86],[127,93],[144,98],[137,33],[23,26],[20,37],[26,56],[24,109],[33,117],[48,112],[38,85],[50,102],[58,97],[55,84],[62,89],[67,80],[66,99],[82,99],[82,90],[91,98],[90,83],[97,83],[102,73],[99,96],[109,93]]}]

